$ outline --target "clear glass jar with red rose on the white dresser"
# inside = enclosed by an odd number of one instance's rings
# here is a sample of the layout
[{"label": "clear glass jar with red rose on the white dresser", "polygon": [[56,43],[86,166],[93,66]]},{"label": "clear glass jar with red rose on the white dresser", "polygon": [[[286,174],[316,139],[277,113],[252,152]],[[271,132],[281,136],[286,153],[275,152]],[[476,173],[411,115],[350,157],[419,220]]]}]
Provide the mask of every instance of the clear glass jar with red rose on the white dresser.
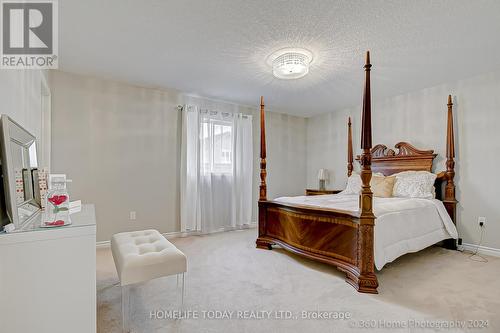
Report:
[{"label": "clear glass jar with red rose on the white dresser", "polygon": [[69,194],[66,189],[66,175],[49,175],[49,190],[45,199],[44,226],[70,224]]}]

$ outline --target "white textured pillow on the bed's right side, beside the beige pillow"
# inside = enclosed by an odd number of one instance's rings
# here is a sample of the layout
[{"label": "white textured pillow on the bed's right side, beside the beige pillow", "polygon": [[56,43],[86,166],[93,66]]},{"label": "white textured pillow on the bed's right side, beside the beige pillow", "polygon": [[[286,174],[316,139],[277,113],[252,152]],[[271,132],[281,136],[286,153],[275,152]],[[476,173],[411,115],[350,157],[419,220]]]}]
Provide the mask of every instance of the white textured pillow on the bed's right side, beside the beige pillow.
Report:
[{"label": "white textured pillow on the bed's right side, beside the beige pillow", "polygon": [[434,198],[436,175],[427,171],[404,171],[396,177],[392,195],[403,198]]}]

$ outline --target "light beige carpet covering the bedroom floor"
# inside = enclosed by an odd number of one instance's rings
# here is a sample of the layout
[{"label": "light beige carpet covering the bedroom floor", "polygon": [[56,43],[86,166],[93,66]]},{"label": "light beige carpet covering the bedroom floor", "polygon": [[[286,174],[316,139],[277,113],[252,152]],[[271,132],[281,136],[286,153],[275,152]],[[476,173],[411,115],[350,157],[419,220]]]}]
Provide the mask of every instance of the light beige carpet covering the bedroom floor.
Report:
[{"label": "light beige carpet covering the bedroom floor", "polygon": [[[256,249],[255,238],[251,229],[173,239],[188,257],[185,310],[192,312],[184,314],[198,318],[151,319],[152,311],[180,306],[176,278],[158,279],[131,291],[133,332],[500,332],[500,258],[480,263],[429,248],[387,265],[378,273],[379,294],[365,295],[335,268],[281,249]],[[98,250],[98,332],[121,331],[117,282],[110,250]],[[208,318],[217,310],[234,312]],[[271,314],[253,318],[264,314],[258,311]],[[351,319],[302,319],[303,311]]]}]

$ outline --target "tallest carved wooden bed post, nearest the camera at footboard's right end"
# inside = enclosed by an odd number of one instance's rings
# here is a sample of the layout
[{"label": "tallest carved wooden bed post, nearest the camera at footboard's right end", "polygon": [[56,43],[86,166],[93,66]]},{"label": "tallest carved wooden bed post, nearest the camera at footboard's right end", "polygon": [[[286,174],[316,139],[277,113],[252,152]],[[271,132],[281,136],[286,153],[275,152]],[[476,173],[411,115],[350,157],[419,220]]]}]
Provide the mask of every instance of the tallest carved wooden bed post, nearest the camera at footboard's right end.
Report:
[{"label": "tallest carved wooden bed post, nearest the camera at footboard's right end", "polygon": [[372,178],[371,148],[372,148],[372,116],[370,92],[370,52],[366,52],[365,89],[363,94],[363,113],[361,123],[361,193],[359,195],[360,216],[358,226],[357,276],[347,274],[347,282],[358,291],[377,293],[378,281],[375,275],[374,240],[375,215],[373,214],[373,193],[370,188]]}]

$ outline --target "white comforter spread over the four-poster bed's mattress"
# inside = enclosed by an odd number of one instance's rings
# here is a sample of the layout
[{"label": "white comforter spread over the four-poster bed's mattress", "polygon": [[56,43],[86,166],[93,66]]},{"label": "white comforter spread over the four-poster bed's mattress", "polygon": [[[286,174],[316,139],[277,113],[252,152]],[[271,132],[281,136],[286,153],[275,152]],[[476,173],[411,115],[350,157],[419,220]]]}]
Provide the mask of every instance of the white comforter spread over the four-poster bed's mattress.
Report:
[{"label": "white comforter spread over the four-poster bed's mattress", "polygon": [[[359,196],[332,194],[281,197],[284,204],[359,211]],[[403,254],[420,251],[458,233],[443,203],[437,199],[373,198],[375,267],[380,270]]]}]

